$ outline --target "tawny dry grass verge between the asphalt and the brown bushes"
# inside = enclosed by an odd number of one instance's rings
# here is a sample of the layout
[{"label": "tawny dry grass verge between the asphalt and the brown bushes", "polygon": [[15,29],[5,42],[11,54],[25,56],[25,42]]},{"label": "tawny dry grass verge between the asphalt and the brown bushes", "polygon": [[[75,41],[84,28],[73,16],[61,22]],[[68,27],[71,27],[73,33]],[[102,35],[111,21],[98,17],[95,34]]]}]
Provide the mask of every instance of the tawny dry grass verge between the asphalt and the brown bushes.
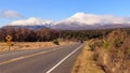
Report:
[{"label": "tawny dry grass verge between the asphalt and the brown bushes", "polygon": [[78,56],[72,73],[104,73],[104,71],[95,64],[92,57],[93,52],[90,50],[87,44],[82,53]]}]

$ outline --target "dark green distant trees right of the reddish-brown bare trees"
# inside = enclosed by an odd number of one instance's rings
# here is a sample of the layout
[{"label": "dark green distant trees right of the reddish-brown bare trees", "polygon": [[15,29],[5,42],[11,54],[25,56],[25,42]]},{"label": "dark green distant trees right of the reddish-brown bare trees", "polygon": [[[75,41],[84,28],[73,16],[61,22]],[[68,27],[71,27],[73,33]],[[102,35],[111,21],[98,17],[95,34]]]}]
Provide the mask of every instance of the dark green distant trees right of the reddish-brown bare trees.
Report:
[{"label": "dark green distant trees right of the reddish-brown bare trees", "polygon": [[62,36],[65,40],[86,41],[93,38],[102,38],[112,30],[63,30]]}]

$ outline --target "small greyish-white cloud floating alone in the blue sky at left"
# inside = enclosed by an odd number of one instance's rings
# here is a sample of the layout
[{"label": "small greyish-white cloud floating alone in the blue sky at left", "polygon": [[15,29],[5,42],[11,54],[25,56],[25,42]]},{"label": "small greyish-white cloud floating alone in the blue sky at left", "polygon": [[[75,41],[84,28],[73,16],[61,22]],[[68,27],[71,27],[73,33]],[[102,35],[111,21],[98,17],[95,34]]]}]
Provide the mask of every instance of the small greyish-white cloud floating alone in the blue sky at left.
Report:
[{"label": "small greyish-white cloud floating alone in the blue sky at left", "polygon": [[1,12],[0,17],[3,17],[3,18],[18,18],[18,17],[22,17],[22,15],[16,11],[8,10],[8,11]]}]

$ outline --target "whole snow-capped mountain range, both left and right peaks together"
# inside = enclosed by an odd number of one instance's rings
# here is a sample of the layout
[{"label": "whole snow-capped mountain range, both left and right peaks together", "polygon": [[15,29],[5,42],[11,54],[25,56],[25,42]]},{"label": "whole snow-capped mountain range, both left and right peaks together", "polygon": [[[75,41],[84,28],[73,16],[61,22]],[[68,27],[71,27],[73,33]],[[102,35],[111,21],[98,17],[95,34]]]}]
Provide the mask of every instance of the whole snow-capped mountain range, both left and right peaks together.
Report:
[{"label": "whole snow-capped mountain range, both left and right peaks together", "polygon": [[115,15],[76,13],[58,21],[30,17],[28,19],[12,21],[9,26],[44,26],[54,29],[121,28],[130,27],[130,18]]}]

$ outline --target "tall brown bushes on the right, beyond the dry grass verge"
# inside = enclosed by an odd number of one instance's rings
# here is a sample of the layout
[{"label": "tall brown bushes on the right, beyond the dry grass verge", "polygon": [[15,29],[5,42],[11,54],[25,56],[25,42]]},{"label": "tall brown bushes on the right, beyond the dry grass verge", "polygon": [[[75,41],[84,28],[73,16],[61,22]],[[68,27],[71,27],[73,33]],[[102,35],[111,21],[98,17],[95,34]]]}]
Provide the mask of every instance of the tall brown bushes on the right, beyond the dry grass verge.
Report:
[{"label": "tall brown bushes on the right, beyond the dry grass verge", "polygon": [[94,60],[106,73],[130,72],[130,35],[121,30],[113,31],[102,40],[93,41]]}]

